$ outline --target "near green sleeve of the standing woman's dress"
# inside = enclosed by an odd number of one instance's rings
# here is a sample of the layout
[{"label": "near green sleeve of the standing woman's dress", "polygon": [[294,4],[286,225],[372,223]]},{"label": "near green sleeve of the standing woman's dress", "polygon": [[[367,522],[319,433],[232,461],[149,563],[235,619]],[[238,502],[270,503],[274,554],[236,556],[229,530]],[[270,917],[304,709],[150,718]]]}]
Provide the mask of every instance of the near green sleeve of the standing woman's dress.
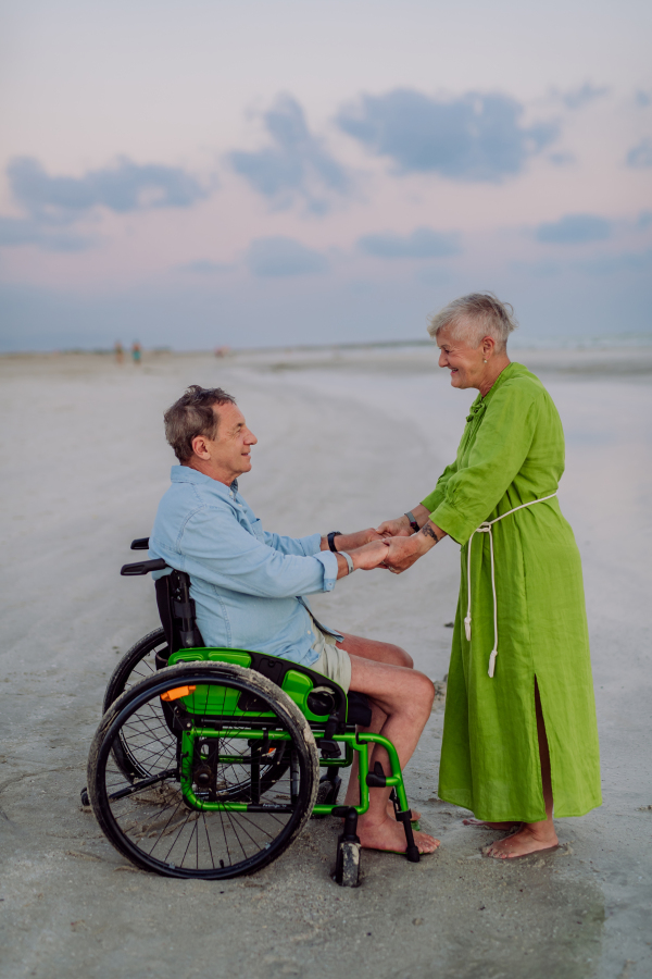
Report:
[{"label": "near green sleeve of the standing woman's dress", "polygon": [[[504,384],[487,406],[468,462],[439,482],[430,520],[459,544],[487,520],[519,472],[535,436],[539,401],[518,384]],[[448,471],[444,470],[443,479]],[[430,499],[429,497],[427,499]],[[427,504],[425,504],[427,506]]]}]

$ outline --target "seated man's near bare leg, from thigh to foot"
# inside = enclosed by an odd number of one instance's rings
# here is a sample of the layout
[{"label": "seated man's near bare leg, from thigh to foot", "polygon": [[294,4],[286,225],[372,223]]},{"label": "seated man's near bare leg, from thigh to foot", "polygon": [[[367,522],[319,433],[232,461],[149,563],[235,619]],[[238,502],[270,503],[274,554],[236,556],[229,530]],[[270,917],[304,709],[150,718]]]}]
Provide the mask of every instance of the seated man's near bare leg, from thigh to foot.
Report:
[{"label": "seated man's near bare leg, from thigh to foot", "polygon": [[[432,682],[424,674],[409,667],[355,656],[351,657],[351,690],[369,696],[385,721],[378,733],[394,745],[401,768],[404,768],[424,730],[435,698]],[[374,745],[369,766],[376,761],[389,771],[387,752]],[[363,846],[369,850],[405,851],[405,831],[402,823],[397,822],[393,811],[387,809],[389,789],[372,789],[369,808],[360,817],[358,834]],[[415,832],[414,842],[421,853],[432,853],[439,841],[428,833]]]}]

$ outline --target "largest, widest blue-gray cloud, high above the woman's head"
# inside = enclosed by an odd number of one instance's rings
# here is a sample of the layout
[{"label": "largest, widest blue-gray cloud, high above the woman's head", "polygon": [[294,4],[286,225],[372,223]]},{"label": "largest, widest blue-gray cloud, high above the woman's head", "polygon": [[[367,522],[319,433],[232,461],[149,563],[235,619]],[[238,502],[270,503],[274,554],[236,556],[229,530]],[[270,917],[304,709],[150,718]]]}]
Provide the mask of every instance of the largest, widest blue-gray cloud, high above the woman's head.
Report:
[{"label": "largest, widest blue-gray cloud, high above the woman's head", "polygon": [[337,122],[369,152],[389,157],[400,174],[499,182],[521,173],[556,136],[553,123],[524,127],[522,114],[519,102],[503,95],[437,99],[397,88],[363,96]]}]

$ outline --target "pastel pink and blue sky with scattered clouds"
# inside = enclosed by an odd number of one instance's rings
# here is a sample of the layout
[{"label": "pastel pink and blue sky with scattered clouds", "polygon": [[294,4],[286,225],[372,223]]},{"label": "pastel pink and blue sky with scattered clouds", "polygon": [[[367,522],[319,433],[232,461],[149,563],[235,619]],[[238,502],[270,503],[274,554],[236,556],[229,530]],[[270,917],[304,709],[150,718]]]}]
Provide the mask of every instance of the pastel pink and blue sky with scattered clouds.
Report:
[{"label": "pastel pink and blue sky with scattered clouds", "polygon": [[652,332],[649,0],[4,0],[0,349]]}]

